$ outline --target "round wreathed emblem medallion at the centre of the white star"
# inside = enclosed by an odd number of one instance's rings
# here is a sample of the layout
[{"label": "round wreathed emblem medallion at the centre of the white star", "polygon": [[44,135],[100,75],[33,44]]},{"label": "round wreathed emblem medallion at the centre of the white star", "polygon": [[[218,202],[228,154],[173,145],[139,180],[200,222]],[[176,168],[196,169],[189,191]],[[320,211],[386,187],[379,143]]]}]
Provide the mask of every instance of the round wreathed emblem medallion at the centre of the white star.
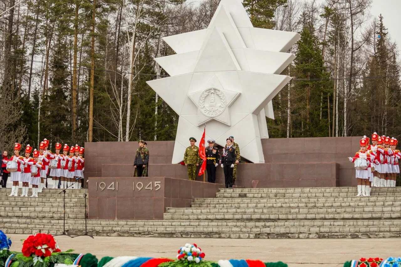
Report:
[{"label": "round wreathed emblem medallion at the centre of the white star", "polygon": [[217,88],[206,89],[199,97],[199,109],[207,117],[219,116],[226,106],[225,94]]}]

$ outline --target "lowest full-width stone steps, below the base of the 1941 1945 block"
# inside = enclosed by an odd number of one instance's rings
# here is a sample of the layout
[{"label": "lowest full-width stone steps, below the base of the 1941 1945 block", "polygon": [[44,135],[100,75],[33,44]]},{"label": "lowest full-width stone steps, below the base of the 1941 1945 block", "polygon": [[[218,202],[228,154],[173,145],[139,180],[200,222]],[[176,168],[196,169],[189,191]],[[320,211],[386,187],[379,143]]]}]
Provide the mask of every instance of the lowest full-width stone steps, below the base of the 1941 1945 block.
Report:
[{"label": "lowest full-width stone steps, below the base of the 1941 1945 block", "polygon": [[[62,220],[24,220],[11,218],[4,223],[6,233],[60,233]],[[57,223],[56,223],[57,222]],[[21,227],[15,229],[18,223]],[[126,225],[124,225],[126,223]],[[356,238],[400,237],[401,220],[350,220],[344,222],[198,222],[198,221],[106,221],[88,220],[89,233],[101,236],[218,237],[218,238]],[[69,234],[85,230],[83,220],[67,220]]]}]

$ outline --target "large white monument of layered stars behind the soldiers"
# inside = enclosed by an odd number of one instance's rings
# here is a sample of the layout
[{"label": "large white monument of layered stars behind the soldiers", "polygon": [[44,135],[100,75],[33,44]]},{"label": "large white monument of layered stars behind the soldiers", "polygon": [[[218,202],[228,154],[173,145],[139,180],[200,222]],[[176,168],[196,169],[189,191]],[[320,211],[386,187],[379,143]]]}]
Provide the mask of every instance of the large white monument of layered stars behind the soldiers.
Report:
[{"label": "large white monument of layered stars behind the soldiers", "polygon": [[279,75],[295,58],[286,53],[296,32],[254,28],[241,0],[221,0],[205,30],[163,38],[176,55],[155,61],[170,77],[148,85],[179,115],[172,163],[182,161],[188,138],[235,137],[241,156],[264,163],[261,139],[271,100],[290,81]]}]

